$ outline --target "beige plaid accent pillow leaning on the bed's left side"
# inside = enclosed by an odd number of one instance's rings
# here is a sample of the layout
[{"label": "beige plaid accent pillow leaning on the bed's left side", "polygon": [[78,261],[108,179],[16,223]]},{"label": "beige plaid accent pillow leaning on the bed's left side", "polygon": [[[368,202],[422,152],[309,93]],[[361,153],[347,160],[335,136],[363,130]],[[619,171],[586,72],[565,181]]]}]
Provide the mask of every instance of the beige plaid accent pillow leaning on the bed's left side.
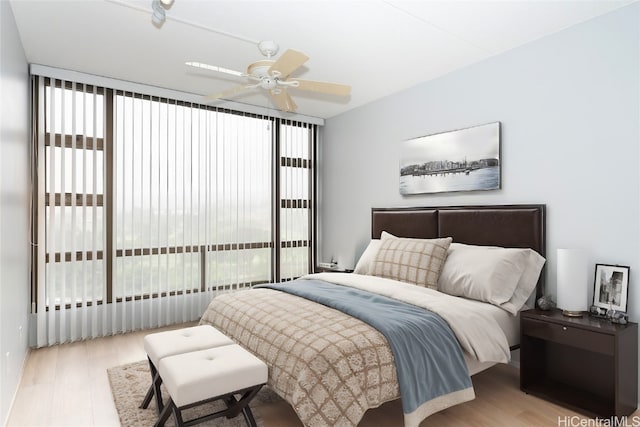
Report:
[{"label": "beige plaid accent pillow leaning on the bed's left side", "polygon": [[438,289],[451,237],[406,239],[383,235],[371,275]]}]

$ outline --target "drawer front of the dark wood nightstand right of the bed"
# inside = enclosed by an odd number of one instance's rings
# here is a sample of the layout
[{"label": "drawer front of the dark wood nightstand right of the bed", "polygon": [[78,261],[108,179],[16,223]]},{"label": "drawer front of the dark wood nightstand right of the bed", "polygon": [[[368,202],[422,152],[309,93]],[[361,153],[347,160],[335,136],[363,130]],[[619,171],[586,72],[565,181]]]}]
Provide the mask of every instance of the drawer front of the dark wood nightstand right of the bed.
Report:
[{"label": "drawer front of the dark wood nightstand right of the bed", "polygon": [[613,355],[615,337],[569,325],[522,319],[522,334],[596,353]]}]

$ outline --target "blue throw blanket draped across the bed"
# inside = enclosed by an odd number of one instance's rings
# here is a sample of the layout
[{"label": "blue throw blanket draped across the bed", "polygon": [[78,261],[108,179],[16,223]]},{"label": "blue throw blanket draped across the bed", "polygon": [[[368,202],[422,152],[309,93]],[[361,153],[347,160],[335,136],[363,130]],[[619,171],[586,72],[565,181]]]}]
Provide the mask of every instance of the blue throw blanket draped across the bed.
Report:
[{"label": "blue throw blanket draped across the bed", "polygon": [[[437,398],[462,392],[473,398],[462,350],[449,325],[437,314],[375,293],[321,280],[260,285],[297,295],[356,317],[382,333],[393,352],[402,408],[411,414]],[[456,402],[460,403],[460,402]],[[450,404],[437,402],[425,416]],[[421,411],[425,412],[425,411]]]}]

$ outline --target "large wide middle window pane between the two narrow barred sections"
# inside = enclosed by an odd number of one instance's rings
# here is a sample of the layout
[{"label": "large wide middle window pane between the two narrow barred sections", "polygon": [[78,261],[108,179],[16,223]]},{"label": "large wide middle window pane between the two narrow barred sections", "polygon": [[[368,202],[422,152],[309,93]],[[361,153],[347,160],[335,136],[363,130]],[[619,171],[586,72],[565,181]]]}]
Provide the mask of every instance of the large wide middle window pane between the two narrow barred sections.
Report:
[{"label": "large wide middle window pane between the two narrow barred sections", "polygon": [[272,120],[124,93],[114,118],[115,296],[269,282]]}]

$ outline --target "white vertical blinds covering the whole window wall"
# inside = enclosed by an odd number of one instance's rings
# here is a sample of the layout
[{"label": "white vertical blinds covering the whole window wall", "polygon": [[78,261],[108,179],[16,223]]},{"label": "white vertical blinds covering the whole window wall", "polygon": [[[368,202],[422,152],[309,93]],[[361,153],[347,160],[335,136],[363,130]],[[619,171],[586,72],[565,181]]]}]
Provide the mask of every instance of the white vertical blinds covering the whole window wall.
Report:
[{"label": "white vertical blinds covering the whole window wall", "polygon": [[316,125],[33,81],[38,346],[312,270]]}]

